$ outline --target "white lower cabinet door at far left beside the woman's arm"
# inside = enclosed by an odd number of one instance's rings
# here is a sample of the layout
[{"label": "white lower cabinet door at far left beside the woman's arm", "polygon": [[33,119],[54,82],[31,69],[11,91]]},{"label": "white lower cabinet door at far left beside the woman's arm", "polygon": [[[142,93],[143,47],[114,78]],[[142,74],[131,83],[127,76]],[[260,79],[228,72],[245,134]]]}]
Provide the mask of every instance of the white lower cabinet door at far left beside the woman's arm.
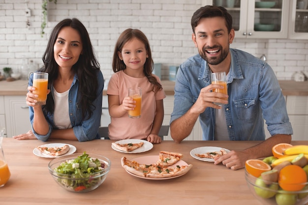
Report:
[{"label": "white lower cabinet door at far left beside the woman's arm", "polygon": [[4,108],[7,137],[31,130],[29,107],[26,103],[25,95],[5,95]]}]

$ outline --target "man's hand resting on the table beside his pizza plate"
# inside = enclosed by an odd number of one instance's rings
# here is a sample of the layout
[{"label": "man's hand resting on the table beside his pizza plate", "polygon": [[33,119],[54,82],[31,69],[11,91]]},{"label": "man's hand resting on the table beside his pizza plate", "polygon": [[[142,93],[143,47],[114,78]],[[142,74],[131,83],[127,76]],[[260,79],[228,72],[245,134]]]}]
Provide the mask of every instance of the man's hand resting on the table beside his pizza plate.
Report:
[{"label": "man's hand resting on the table beside his pizza plate", "polygon": [[247,155],[247,152],[231,150],[227,154],[218,157],[215,160],[214,164],[217,165],[219,163],[222,163],[231,170],[238,170],[245,167],[245,162],[248,159],[249,156]]}]

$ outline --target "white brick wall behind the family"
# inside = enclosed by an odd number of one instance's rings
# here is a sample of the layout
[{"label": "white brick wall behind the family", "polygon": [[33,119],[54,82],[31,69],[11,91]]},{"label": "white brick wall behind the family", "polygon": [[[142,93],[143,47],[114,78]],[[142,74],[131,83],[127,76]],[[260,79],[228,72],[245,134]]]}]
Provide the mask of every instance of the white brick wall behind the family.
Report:
[{"label": "white brick wall behind the family", "polygon": [[[191,40],[190,18],[202,0],[58,0],[49,2],[46,34],[41,37],[42,0],[0,0],[0,71],[14,70],[22,59],[41,66],[51,29],[63,18],[76,17],[88,29],[104,77],[112,74],[115,42],[126,28],[141,29],[149,38],[154,62],[179,65],[197,53]],[[25,9],[31,9],[31,17]],[[27,28],[26,21],[30,22]],[[235,39],[231,47],[256,57],[265,54],[279,80],[290,80],[295,71],[308,73],[308,40]]]}]

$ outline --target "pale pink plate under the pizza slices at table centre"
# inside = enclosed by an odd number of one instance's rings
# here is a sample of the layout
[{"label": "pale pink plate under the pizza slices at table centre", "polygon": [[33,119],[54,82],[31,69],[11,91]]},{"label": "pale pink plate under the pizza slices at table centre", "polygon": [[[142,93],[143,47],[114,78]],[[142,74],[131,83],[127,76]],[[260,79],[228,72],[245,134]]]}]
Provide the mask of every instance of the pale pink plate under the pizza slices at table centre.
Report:
[{"label": "pale pink plate under the pizza slices at table centre", "polygon": [[[135,159],[132,159],[136,162],[138,162],[139,164],[155,164],[159,159],[159,156],[158,155],[151,155],[151,156],[143,156],[143,157],[138,157],[138,158],[135,158]],[[169,167],[176,167],[177,165],[179,166],[185,166],[185,165],[188,165],[185,161],[183,160],[180,160],[178,161],[177,163],[169,166]],[[136,176],[136,177],[139,177],[139,178],[145,178],[145,179],[152,179],[152,180],[164,180],[164,179],[171,179],[171,178],[176,178],[176,177],[179,177],[179,176],[183,176],[185,175],[189,170],[187,170],[187,172],[183,173],[182,175],[178,175],[178,176],[171,176],[171,177],[164,177],[164,178],[149,178],[149,177],[144,177],[144,176],[138,176],[138,175],[135,175],[135,174],[132,174],[130,172],[128,172],[127,170],[125,170],[128,174],[132,175],[132,176]]]}]

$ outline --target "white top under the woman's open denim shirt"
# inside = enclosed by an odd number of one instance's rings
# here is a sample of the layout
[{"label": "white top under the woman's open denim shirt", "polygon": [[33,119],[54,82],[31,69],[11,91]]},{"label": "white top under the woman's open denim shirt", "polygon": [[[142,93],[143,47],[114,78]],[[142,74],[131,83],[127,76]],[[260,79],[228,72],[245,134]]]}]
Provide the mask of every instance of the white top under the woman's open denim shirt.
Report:
[{"label": "white top under the woman's open denim shirt", "polygon": [[54,123],[59,129],[67,129],[72,127],[68,113],[68,92],[69,89],[65,92],[59,93],[54,88]]}]

